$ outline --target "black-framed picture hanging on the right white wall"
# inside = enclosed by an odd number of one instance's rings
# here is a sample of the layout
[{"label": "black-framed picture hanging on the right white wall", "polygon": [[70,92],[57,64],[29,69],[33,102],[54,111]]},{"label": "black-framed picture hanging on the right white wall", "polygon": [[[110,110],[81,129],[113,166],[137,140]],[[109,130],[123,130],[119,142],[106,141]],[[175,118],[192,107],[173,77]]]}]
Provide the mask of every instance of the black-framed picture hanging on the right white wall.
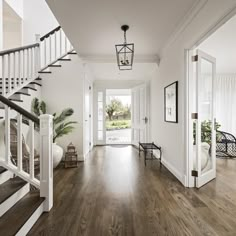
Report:
[{"label": "black-framed picture hanging on the right white wall", "polygon": [[165,121],[178,123],[178,81],[164,88]]}]

